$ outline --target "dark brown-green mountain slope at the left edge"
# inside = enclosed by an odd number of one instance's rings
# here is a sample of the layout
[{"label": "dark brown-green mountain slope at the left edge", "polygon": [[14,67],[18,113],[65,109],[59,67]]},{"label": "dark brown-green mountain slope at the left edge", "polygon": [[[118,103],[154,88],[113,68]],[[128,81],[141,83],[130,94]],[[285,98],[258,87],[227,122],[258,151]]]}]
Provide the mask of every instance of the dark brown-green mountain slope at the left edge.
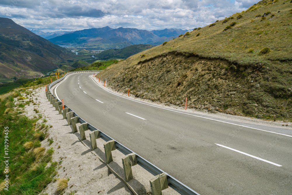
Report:
[{"label": "dark brown-green mountain slope at the left edge", "polygon": [[70,51],[16,24],[0,18],[0,77],[38,77],[41,71],[58,68]]}]

